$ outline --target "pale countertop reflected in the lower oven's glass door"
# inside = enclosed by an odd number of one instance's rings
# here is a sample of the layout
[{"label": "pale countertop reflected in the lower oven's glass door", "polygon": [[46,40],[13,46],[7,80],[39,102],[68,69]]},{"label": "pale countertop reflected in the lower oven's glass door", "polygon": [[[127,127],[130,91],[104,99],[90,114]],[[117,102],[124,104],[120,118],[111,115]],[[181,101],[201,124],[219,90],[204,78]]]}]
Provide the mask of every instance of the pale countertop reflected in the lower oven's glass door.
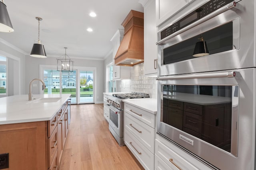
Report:
[{"label": "pale countertop reflected in the lower oven's glass door", "polygon": [[164,98],[170,100],[178,100],[181,102],[188,102],[199,105],[212,105],[212,104],[224,104],[232,102],[231,98],[220,96],[209,96],[202,94],[188,94],[188,93],[176,93],[173,95],[164,94]]}]

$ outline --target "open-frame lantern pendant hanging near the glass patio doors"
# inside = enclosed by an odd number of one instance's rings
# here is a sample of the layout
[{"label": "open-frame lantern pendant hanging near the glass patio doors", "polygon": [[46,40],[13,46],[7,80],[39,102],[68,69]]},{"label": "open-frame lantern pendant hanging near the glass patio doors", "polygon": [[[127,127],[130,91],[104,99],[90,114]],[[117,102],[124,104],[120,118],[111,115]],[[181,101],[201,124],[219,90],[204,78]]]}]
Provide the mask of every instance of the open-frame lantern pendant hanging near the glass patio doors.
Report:
[{"label": "open-frame lantern pendant hanging near the glass patio doors", "polygon": [[74,61],[72,61],[66,54],[67,47],[64,47],[64,49],[65,55],[62,55],[57,59],[57,71],[73,72]]}]

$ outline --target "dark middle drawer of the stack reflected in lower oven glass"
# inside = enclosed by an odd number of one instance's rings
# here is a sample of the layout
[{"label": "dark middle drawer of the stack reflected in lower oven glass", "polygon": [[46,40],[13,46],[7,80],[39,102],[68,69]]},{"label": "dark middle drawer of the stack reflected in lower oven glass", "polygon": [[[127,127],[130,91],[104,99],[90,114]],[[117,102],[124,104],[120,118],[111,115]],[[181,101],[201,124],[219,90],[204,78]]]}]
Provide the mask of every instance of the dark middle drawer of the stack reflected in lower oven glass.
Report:
[{"label": "dark middle drawer of the stack reflected in lower oven glass", "polygon": [[184,111],[183,127],[202,133],[202,116]]}]

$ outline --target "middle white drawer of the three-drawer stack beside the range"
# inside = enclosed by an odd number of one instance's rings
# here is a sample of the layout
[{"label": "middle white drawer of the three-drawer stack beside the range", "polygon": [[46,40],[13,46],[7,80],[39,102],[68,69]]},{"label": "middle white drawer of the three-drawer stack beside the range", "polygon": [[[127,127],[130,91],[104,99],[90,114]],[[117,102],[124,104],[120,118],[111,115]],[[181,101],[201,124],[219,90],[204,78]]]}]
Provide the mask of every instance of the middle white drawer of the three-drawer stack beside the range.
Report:
[{"label": "middle white drawer of the three-drawer stack beside the range", "polygon": [[155,129],[124,112],[124,127],[152,154],[155,153]]}]

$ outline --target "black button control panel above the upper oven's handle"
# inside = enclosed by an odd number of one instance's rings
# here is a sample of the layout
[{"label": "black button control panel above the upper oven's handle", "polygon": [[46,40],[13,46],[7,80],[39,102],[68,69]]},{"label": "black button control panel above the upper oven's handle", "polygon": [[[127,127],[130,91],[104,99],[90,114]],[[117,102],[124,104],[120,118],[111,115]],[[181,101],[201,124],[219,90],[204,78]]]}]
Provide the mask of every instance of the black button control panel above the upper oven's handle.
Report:
[{"label": "black button control panel above the upper oven's handle", "polygon": [[207,16],[208,14],[211,14],[212,12],[233,1],[234,0],[210,0],[206,4],[200,6],[195,11],[185,16],[184,18],[180,19],[176,23],[161,31],[161,39],[168,37],[176,31],[186,27],[187,25],[190,25],[194,21],[200,20],[201,18]]}]

